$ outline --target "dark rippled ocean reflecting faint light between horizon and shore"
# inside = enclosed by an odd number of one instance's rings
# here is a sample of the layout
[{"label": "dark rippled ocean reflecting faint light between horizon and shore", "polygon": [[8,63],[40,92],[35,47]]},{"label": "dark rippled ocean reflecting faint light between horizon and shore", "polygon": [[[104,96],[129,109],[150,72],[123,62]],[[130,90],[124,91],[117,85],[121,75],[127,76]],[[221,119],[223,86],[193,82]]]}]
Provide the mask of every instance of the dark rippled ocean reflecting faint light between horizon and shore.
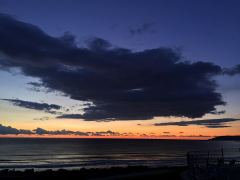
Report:
[{"label": "dark rippled ocean reflecting faint light between horizon and shore", "polygon": [[240,142],[0,138],[0,169],[185,166],[187,152],[221,148],[240,148]]}]

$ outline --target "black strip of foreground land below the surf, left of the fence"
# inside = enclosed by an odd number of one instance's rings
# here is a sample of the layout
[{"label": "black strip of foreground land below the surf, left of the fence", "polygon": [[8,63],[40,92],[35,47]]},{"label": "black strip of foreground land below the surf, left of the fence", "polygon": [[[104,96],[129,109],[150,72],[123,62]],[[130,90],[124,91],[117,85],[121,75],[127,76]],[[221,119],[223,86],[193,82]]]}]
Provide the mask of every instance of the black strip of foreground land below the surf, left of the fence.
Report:
[{"label": "black strip of foreground land below the surf, left of the fence", "polygon": [[80,170],[46,170],[34,171],[33,169],[25,171],[2,170],[0,171],[0,180],[40,180],[40,179],[58,179],[58,180],[179,180],[181,174],[186,170],[184,167],[175,168],[148,168],[148,167],[112,167],[106,169],[80,169]]}]

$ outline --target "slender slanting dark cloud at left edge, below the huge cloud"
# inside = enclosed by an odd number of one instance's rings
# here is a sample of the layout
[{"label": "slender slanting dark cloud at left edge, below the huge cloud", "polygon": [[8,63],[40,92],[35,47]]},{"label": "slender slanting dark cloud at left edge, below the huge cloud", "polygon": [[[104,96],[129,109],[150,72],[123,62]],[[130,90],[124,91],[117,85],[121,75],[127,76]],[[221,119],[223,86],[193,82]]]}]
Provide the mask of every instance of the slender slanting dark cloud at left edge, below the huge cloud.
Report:
[{"label": "slender slanting dark cloud at left edge, below the huge cloud", "polygon": [[39,110],[39,111],[45,111],[51,114],[57,114],[58,112],[55,110],[61,109],[61,106],[56,104],[37,103],[37,102],[31,102],[31,101],[23,101],[19,99],[1,99],[1,100],[8,101],[15,106]]}]

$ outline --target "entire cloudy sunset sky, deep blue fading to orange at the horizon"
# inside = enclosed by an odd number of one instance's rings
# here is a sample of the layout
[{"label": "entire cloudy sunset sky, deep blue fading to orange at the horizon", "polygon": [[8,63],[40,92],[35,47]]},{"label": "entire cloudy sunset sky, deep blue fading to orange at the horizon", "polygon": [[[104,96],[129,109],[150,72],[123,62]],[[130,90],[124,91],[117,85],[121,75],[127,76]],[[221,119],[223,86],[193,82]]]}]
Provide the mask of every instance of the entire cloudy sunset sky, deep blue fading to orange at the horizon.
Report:
[{"label": "entire cloudy sunset sky, deep blue fading to orange at the horizon", "polygon": [[237,0],[0,0],[0,136],[239,135]]}]

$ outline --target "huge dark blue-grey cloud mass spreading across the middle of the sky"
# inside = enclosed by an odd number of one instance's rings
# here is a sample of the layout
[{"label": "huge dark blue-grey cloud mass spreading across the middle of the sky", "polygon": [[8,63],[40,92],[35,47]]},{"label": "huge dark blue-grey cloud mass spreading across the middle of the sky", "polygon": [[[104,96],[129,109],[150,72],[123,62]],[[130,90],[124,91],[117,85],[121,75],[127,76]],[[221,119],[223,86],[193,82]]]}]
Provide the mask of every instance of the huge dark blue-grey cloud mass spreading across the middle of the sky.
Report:
[{"label": "huge dark blue-grey cloud mass spreading across the middle of the sky", "polygon": [[84,114],[61,118],[196,118],[225,104],[212,79],[222,68],[186,62],[171,48],[132,52],[100,38],[79,48],[69,33],[52,37],[37,26],[0,15],[0,54],[5,69],[19,68],[40,79],[45,88],[93,104],[83,109]]}]

